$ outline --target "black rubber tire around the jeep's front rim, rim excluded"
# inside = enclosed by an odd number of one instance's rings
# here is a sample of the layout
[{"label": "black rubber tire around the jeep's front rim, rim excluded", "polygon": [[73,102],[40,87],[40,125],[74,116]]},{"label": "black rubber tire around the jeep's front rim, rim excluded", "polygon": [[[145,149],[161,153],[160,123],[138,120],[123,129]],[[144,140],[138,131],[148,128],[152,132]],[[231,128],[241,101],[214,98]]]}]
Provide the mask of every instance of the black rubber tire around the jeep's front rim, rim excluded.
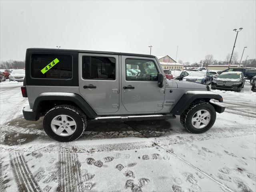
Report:
[{"label": "black rubber tire around the jeep's front rim, rim excluded", "polygon": [[[207,110],[210,113],[210,122],[204,128],[197,129],[192,125],[192,118],[198,110]],[[214,107],[206,102],[193,102],[180,116],[180,123],[190,133],[204,133],[208,131],[216,120],[216,111]]]}]

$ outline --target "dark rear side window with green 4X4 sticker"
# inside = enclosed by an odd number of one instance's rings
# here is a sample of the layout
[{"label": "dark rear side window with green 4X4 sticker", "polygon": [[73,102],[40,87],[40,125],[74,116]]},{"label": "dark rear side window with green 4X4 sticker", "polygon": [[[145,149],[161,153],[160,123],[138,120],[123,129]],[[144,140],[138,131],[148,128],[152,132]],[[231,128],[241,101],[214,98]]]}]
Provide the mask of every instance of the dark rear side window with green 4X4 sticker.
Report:
[{"label": "dark rear side window with green 4X4 sticker", "polygon": [[70,55],[32,54],[30,66],[33,78],[72,78],[72,56]]}]

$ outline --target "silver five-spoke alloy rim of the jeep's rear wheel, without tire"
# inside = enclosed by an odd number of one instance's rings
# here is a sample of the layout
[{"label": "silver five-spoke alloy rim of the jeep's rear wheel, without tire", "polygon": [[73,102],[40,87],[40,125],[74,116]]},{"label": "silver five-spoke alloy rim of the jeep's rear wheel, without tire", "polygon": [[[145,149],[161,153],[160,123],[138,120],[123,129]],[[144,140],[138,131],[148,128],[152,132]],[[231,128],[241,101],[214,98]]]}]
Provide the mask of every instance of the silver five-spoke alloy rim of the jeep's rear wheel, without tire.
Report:
[{"label": "silver five-spoke alloy rim of the jeep's rear wheel, without tire", "polygon": [[68,115],[58,115],[52,119],[51,128],[59,136],[70,136],[76,131],[76,122]]}]

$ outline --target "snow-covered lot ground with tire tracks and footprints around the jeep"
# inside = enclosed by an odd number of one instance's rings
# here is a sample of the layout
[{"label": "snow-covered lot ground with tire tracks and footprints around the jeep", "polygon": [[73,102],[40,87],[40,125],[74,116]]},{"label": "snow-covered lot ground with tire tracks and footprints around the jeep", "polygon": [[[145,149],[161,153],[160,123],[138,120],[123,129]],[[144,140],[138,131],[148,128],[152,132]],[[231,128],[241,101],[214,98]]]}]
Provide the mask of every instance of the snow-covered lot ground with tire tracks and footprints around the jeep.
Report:
[{"label": "snow-covered lot ground with tire tracks and footprints around the jeep", "polygon": [[18,82],[0,84],[0,190],[256,191],[256,93],[218,92],[226,110],[204,134],[172,120],[91,123],[70,143],[24,120]]}]

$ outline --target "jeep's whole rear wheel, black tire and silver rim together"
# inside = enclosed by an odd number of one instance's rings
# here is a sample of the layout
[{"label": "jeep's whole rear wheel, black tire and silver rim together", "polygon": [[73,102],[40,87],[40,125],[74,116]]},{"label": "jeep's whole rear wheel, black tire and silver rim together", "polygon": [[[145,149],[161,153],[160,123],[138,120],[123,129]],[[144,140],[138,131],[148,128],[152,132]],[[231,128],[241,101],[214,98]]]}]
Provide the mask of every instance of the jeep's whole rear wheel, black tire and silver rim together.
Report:
[{"label": "jeep's whole rear wheel, black tire and silver rim together", "polygon": [[59,105],[44,116],[43,126],[46,134],[60,142],[78,139],[86,128],[86,116],[71,105]]}]

